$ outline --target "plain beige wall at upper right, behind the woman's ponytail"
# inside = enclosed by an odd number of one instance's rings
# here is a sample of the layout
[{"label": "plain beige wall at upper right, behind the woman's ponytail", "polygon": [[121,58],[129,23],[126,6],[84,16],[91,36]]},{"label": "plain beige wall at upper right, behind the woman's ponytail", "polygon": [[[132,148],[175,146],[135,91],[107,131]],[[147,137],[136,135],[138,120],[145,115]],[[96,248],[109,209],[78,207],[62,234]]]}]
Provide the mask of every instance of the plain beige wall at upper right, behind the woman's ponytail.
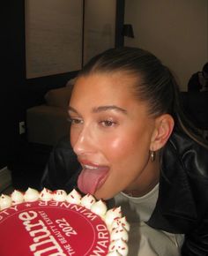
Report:
[{"label": "plain beige wall at upper right, behind the woman's ponytail", "polygon": [[208,1],[126,0],[125,23],[135,34],[125,45],[159,56],[186,91],[190,75],[208,60]]}]

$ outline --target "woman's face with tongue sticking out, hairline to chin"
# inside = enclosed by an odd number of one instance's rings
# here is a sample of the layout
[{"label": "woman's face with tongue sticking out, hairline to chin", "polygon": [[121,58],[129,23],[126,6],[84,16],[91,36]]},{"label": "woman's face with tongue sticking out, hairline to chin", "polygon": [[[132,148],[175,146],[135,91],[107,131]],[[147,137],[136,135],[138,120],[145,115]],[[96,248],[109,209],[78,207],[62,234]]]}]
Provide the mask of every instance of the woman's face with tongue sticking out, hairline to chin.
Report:
[{"label": "woman's face with tongue sticking out, hairline to chin", "polygon": [[92,74],[78,78],[71,95],[71,146],[83,167],[78,187],[98,199],[136,190],[151,176],[154,119],[133,96],[135,82],[122,72]]}]

